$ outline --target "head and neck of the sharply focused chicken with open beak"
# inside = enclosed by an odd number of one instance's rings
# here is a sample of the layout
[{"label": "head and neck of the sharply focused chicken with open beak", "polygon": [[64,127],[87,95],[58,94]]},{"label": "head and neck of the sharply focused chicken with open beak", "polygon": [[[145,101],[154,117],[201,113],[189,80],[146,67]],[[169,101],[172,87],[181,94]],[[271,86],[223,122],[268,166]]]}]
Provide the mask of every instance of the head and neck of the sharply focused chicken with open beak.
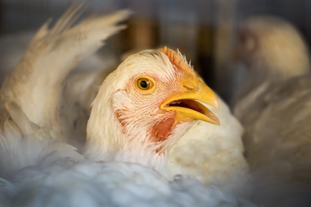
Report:
[{"label": "head and neck of the sharply focused chicken with open beak", "polygon": [[86,157],[138,162],[165,174],[169,150],[195,120],[219,124],[194,99],[218,108],[214,92],[180,52],[164,47],[131,55],[106,77],[92,103]]}]

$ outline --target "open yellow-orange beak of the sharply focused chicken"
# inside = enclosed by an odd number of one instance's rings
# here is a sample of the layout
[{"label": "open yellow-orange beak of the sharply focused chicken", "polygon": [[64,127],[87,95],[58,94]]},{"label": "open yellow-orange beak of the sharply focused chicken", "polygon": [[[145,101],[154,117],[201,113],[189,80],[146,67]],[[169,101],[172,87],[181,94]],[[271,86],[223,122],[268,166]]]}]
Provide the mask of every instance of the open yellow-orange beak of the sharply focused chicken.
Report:
[{"label": "open yellow-orange beak of the sharply focused chicken", "polygon": [[180,121],[197,119],[220,125],[216,115],[198,102],[202,101],[219,110],[219,103],[215,93],[203,83],[202,79],[185,79],[180,83],[180,89],[181,92],[165,99],[160,108],[176,111],[177,119]]}]

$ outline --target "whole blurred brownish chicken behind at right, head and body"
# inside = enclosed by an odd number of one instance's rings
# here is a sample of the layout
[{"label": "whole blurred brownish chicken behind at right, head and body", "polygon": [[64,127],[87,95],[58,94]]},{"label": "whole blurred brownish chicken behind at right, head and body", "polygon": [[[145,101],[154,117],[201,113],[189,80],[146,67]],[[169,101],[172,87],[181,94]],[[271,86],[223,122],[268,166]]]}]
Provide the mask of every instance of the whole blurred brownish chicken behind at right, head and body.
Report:
[{"label": "whole blurred brownish chicken behind at right, head and body", "polygon": [[311,204],[311,77],[301,34],[276,17],[253,17],[238,32],[235,57],[247,69],[234,115],[264,206]]}]

